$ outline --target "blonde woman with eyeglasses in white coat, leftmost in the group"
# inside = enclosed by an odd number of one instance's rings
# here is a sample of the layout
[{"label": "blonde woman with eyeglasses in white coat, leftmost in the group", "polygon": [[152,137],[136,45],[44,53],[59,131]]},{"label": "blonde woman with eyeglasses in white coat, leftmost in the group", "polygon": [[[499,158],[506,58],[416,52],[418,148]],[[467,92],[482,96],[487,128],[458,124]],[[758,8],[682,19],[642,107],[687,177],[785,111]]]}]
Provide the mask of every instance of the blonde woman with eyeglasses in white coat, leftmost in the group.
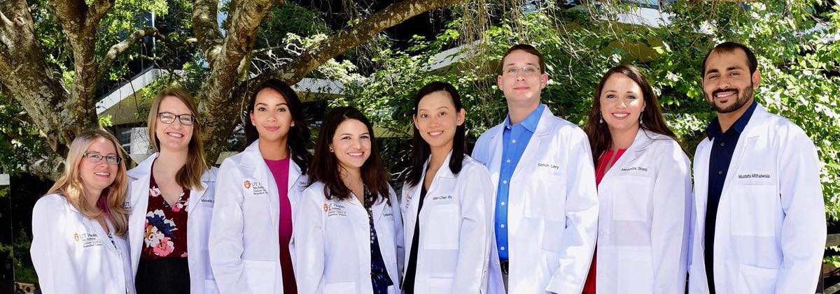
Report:
[{"label": "blonde woman with eyeglasses in white coat, leftmost in the group", "polygon": [[29,253],[44,293],[134,293],[122,162],[113,135],[82,132],[63,175],[35,203]]}]

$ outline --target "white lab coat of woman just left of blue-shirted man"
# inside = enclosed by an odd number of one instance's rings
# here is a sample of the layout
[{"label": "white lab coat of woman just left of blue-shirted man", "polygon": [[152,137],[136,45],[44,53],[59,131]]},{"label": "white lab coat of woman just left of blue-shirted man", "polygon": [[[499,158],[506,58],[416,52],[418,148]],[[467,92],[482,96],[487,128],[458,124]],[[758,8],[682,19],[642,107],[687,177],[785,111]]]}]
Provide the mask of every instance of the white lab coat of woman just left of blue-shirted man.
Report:
[{"label": "white lab coat of woman just left of blue-shirted man", "polygon": [[[490,173],[481,162],[465,155],[461,170],[449,170],[452,152],[434,174],[420,210],[417,246],[417,294],[486,293],[493,195]],[[423,171],[428,167],[428,159]],[[406,264],[412,248],[417,205],[426,173],[417,186],[402,186]],[[405,276],[405,271],[403,271]]]}]

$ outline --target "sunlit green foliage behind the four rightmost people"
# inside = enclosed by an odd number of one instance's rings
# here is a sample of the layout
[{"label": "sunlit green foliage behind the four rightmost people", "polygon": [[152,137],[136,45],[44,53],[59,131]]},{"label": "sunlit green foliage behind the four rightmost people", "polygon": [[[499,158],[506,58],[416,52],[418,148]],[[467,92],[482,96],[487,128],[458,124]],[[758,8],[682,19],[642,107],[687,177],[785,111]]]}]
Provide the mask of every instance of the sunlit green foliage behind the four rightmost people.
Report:
[{"label": "sunlit green foliage behind the four rightmost people", "polygon": [[[663,8],[670,21],[659,26],[618,22],[619,15],[638,13],[633,4],[599,2],[569,9],[547,4],[492,26],[480,42],[464,42],[455,53],[462,58],[457,63],[428,70],[435,54],[458,43],[456,20],[433,41],[416,38],[409,49],[386,49],[373,60],[378,70],[349,85],[346,97],[333,104],[357,106],[377,126],[409,137],[414,92],[430,81],[447,81],[459,89],[467,109],[468,142],[475,142],[507,115],[496,87],[501,54],[512,44],[529,43],[545,57],[550,80],[542,101],[555,115],[582,126],[601,75],[616,64],[637,64],[692,156],[714,117],[702,93],[701,60],[714,44],[738,41],[759,55],[763,77],[756,99],[801,126],[815,142],[823,162],[827,216],[837,220],[840,107],[834,95],[840,93],[840,7],[815,15],[819,4],[675,2]],[[396,166],[406,164],[407,155],[400,158]]]}]

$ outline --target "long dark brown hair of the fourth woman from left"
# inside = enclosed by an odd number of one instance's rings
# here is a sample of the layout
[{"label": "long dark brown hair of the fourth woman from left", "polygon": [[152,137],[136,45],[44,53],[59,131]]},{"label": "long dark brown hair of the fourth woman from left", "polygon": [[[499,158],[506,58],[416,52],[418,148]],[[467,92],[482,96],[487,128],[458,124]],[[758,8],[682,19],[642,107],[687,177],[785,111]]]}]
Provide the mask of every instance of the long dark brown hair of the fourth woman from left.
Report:
[{"label": "long dark brown hair of the fourth woman from left", "polygon": [[[333,152],[329,152],[329,144],[333,142],[335,130],[339,125],[347,120],[361,121],[367,126],[367,131],[370,134],[370,157],[362,164],[361,176],[362,182],[367,186],[368,191],[373,194],[373,202],[379,202],[385,199],[388,204],[391,204],[389,199],[388,178],[386,177],[385,165],[382,164],[379,148],[376,147],[376,137],[373,134],[373,126],[370,126],[370,121],[361,113],[361,111],[349,107],[342,106],[329,111],[327,116],[323,119],[323,125],[318,132],[318,142],[315,143],[315,154],[312,157],[312,165],[309,167],[309,184],[321,182],[324,184],[324,196],[327,199],[349,199],[350,189],[344,185],[339,173],[339,160],[335,157]],[[368,199],[365,199],[368,202]]]}]

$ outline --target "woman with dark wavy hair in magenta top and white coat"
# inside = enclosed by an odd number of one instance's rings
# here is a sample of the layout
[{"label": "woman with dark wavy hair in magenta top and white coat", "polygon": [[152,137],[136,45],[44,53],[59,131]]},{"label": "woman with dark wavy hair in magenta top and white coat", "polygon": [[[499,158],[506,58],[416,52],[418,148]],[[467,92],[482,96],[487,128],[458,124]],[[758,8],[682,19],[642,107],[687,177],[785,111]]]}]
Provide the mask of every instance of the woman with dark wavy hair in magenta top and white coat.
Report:
[{"label": "woman with dark wavy hair in magenta top and white coat", "polygon": [[222,293],[297,293],[292,215],[307,183],[309,128],[289,85],[267,80],[248,104],[249,146],[218,171],[210,264]]}]

